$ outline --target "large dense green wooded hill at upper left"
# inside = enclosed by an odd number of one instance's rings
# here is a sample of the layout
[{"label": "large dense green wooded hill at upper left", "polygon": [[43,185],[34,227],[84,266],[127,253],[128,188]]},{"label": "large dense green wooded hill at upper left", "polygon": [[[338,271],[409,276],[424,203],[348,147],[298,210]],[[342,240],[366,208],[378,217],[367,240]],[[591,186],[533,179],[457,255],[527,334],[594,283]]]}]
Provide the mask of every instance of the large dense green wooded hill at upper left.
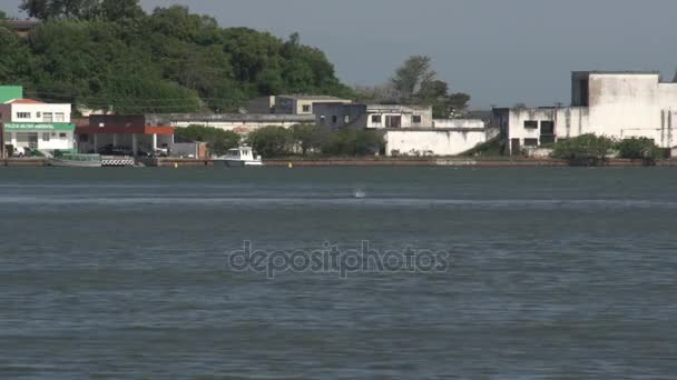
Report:
[{"label": "large dense green wooded hill at upper left", "polygon": [[350,97],[325,54],[223,29],[185,7],[146,14],[138,0],[24,0],[41,20],[28,39],[0,23],[0,82],[27,96],[120,113],[227,112],[262,94]]}]

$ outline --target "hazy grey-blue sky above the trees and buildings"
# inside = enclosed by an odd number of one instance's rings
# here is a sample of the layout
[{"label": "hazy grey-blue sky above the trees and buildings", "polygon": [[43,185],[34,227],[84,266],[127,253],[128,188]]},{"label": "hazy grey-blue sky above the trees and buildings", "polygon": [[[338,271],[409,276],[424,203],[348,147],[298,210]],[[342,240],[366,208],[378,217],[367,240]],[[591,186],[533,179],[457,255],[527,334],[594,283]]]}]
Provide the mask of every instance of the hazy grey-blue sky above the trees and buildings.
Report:
[{"label": "hazy grey-blue sky above the trees and buildings", "polygon": [[[17,14],[18,0],[0,0]],[[141,0],[322,49],[346,84],[389,80],[413,54],[475,109],[570,102],[570,72],[677,68],[675,0]]]}]

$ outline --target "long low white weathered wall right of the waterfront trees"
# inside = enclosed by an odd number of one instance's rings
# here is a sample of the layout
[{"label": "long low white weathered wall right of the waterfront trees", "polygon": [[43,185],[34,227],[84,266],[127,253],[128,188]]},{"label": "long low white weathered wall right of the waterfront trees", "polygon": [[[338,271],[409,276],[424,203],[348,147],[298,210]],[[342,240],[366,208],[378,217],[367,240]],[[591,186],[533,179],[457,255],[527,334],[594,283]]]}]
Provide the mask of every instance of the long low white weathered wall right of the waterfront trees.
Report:
[{"label": "long low white weathered wall right of the waterfront trees", "polygon": [[394,156],[396,151],[401,156],[457,156],[484,143],[487,131],[483,129],[389,130],[385,133],[385,141],[387,156]]}]

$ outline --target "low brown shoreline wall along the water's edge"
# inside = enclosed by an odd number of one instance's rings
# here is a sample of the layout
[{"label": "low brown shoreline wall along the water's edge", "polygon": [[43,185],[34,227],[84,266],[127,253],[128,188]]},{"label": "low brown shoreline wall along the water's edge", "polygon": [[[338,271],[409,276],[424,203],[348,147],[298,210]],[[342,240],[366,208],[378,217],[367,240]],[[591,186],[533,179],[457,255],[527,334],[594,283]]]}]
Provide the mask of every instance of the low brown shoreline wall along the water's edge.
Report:
[{"label": "low brown shoreline wall along the water's edge", "polygon": [[[195,159],[141,159],[139,162],[150,168],[204,168],[214,167],[213,160]],[[390,168],[568,168],[572,167],[566,160],[556,159],[510,159],[510,158],[291,158],[265,160],[264,166],[271,168],[326,168],[326,167],[390,167]],[[677,167],[677,160],[659,160],[656,167]],[[0,159],[0,167],[49,167],[43,158]],[[607,164],[598,168],[636,168],[651,167],[642,160],[610,159]]]}]

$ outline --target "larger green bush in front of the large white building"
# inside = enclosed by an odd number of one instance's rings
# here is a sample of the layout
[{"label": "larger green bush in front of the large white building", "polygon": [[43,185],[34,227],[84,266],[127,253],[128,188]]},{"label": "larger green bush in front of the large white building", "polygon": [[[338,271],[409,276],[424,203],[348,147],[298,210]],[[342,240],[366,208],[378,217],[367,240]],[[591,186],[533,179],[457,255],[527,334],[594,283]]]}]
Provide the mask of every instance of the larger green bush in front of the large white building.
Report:
[{"label": "larger green bush in front of the large white building", "polygon": [[552,144],[552,157],[572,163],[600,164],[607,160],[614,146],[614,140],[605,136],[581,134]]}]

